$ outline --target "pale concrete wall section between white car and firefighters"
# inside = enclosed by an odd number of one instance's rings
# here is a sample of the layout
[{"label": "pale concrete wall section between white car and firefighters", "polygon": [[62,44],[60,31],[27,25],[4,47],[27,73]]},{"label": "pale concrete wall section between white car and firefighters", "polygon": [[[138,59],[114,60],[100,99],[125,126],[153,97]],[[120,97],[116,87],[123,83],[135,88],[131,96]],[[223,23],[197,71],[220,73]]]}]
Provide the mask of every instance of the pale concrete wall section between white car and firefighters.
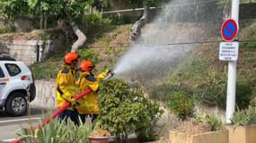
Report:
[{"label": "pale concrete wall section between white car and firefighters", "polygon": [[57,108],[55,99],[55,80],[36,80],[36,98],[31,102],[32,107]]}]

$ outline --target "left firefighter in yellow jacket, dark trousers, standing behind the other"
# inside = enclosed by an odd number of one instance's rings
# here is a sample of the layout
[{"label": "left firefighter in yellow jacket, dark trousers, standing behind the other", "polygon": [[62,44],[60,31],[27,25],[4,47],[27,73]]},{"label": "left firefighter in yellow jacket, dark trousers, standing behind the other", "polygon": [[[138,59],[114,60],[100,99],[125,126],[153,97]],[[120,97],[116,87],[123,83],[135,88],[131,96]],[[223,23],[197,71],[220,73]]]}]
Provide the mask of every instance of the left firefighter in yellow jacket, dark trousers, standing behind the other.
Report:
[{"label": "left firefighter in yellow jacket, dark trousers, standing behind the other", "polygon": [[55,84],[57,108],[63,106],[66,102],[71,103],[71,107],[59,114],[57,119],[66,122],[67,118],[70,118],[78,125],[78,112],[72,106],[75,105],[75,72],[77,71],[79,55],[75,52],[67,53],[64,62],[63,68],[57,73]]}]

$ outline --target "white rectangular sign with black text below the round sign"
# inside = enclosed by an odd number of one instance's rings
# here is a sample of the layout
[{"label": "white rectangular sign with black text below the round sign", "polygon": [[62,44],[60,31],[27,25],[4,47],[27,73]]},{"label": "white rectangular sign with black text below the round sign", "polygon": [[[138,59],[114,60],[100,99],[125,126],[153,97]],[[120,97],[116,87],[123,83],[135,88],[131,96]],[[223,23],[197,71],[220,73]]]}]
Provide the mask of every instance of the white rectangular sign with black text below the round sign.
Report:
[{"label": "white rectangular sign with black text below the round sign", "polygon": [[238,42],[220,42],[218,59],[221,61],[237,61]]}]

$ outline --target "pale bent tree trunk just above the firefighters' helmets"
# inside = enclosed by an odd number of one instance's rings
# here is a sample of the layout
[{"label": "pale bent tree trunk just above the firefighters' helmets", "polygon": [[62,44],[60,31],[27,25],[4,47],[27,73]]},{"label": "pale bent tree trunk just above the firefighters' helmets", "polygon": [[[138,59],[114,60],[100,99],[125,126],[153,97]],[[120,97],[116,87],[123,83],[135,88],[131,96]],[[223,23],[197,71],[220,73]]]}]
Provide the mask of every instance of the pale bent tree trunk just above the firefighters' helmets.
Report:
[{"label": "pale bent tree trunk just above the firefighters' helmets", "polygon": [[71,52],[77,51],[79,46],[83,46],[86,41],[86,36],[84,35],[84,32],[78,28],[75,21],[73,20],[72,16],[65,10],[66,16],[69,19],[69,23],[72,26],[73,31],[75,32],[75,35],[77,36],[77,40],[72,45]]}]

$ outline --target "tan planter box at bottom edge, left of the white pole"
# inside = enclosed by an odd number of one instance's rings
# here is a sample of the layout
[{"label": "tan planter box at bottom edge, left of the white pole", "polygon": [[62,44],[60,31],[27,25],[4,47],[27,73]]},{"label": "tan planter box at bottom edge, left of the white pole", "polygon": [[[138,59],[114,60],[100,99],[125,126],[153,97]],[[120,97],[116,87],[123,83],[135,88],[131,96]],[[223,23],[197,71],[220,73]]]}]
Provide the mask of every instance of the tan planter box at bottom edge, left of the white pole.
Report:
[{"label": "tan planter box at bottom edge, left of the white pole", "polygon": [[228,143],[228,130],[210,131],[195,135],[171,130],[169,138],[172,143]]}]

